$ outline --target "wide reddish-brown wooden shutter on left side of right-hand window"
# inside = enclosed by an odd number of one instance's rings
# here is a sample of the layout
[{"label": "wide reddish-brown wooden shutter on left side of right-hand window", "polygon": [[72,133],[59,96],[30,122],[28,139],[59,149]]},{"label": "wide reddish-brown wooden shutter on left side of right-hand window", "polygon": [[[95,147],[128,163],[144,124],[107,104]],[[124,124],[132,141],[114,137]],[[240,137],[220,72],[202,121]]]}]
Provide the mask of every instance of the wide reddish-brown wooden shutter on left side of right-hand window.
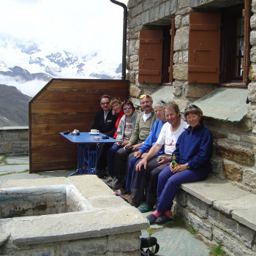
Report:
[{"label": "wide reddish-brown wooden shutter on left side of right-hand window", "polygon": [[189,83],[219,83],[220,13],[189,13]]}]

